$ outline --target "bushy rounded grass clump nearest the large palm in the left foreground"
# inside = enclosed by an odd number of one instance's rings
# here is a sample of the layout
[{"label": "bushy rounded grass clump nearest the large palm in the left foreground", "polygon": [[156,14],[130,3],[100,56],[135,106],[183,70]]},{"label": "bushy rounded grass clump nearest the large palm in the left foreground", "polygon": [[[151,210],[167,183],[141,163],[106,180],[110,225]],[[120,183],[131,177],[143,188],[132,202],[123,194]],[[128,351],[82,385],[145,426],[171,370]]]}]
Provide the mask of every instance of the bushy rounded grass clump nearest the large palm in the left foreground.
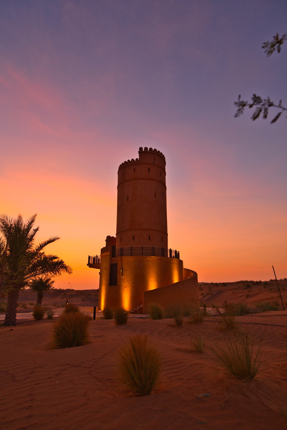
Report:
[{"label": "bushy rounded grass clump nearest the large palm in the left foreground", "polygon": [[54,347],[72,348],[89,343],[89,315],[82,312],[63,312],[53,324],[52,340]]}]

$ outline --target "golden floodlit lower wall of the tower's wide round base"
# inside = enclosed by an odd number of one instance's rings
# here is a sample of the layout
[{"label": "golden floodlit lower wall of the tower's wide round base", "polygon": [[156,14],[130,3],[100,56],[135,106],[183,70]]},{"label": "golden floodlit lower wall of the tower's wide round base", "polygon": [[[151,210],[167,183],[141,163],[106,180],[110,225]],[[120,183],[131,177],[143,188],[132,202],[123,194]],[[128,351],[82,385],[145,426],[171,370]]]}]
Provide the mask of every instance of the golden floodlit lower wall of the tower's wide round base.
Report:
[{"label": "golden floodlit lower wall of the tower's wide round base", "polygon": [[[104,257],[104,259],[102,259]],[[143,292],[184,279],[183,261],[168,257],[117,257],[117,286],[109,286],[108,256],[101,256],[99,309],[123,306],[128,310],[143,304]],[[102,266],[103,264],[103,266]],[[105,267],[105,269],[104,269]],[[123,268],[123,272],[120,271]],[[123,276],[122,276],[123,274]]]}]

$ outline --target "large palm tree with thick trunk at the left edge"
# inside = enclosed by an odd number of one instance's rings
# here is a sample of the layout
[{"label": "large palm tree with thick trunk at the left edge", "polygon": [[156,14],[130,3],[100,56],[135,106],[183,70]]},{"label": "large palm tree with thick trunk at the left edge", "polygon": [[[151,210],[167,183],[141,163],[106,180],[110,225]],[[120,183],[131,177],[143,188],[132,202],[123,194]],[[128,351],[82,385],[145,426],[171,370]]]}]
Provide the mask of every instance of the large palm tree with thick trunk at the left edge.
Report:
[{"label": "large palm tree with thick trunk at the left edge", "polygon": [[[14,325],[16,322],[17,302],[19,292],[25,288],[31,279],[41,275],[59,276],[62,273],[72,273],[70,266],[57,255],[45,254],[43,249],[49,243],[56,242],[59,237],[50,237],[47,240],[35,244],[35,235],[39,227],[33,228],[36,216],[32,215],[24,222],[22,215],[10,219],[7,215],[0,215],[0,232],[5,244],[12,224],[3,276],[3,287],[7,292],[7,309],[4,324]],[[1,240],[1,239],[0,239]],[[0,256],[0,265],[2,263]]]}]

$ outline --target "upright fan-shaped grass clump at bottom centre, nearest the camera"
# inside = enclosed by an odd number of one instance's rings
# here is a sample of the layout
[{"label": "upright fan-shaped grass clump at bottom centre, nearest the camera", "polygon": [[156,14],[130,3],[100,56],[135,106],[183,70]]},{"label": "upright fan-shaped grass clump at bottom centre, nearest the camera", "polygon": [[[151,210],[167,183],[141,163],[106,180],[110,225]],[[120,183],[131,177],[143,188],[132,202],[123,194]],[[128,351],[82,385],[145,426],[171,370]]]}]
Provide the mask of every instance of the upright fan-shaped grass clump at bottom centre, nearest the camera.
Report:
[{"label": "upright fan-shaped grass clump at bottom centre, nearest the camera", "polygon": [[117,371],[120,381],[134,396],[147,396],[160,378],[162,362],[160,353],[148,336],[130,337],[119,352]]}]

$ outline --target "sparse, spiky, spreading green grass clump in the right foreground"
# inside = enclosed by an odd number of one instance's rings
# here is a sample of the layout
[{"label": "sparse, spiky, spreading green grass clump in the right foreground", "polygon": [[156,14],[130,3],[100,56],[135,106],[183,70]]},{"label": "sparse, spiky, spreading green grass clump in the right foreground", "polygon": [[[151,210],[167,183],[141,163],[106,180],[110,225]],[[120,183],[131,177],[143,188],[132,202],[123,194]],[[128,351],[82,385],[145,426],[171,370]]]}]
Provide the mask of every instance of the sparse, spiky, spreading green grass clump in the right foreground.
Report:
[{"label": "sparse, spiky, spreading green grass clump in the right foreground", "polygon": [[225,347],[209,348],[219,366],[238,379],[253,379],[260,367],[260,344],[253,352],[253,340],[248,333],[233,335]]}]

